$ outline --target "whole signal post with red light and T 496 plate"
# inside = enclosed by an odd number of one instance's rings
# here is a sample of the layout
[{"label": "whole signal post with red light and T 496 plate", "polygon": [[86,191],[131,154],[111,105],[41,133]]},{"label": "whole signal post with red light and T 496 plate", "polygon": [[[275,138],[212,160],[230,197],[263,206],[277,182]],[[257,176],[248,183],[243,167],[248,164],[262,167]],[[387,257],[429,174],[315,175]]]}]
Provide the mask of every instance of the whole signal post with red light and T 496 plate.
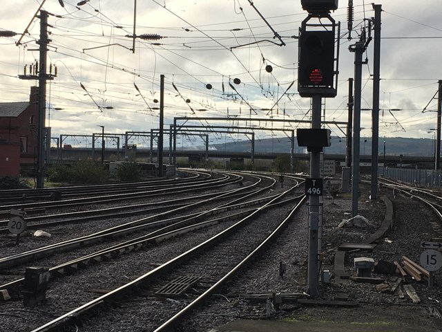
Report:
[{"label": "whole signal post with red light and T 496 plate", "polygon": [[[320,178],[320,153],[330,146],[330,130],[321,129],[322,98],[336,97],[338,77],[338,47],[335,49],[338,24],[330,10],[338,8],[338,0],[301,0],[302,9],[309,12],[302,21],[298,43],[298,92],[311,98],[311,129],[298,129],[296,137],[300,147],[310,152],[310,176],[306,181],[309,195],[309,249],[307,293],[319,295],[318,248],[320,196],[323,181]],[[339,43],[336,43],[339,45]],[[336,54],[336,55],[335,55]],[[311,187],[315,186],[315,187]]]}]

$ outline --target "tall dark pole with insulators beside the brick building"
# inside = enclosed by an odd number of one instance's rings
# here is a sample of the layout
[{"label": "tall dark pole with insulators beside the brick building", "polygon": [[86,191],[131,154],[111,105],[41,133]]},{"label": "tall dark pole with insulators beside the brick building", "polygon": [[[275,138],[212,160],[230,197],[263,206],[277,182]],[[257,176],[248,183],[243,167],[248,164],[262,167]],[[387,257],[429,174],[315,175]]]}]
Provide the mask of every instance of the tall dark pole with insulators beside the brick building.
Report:
[{"label": "tall dark pole with insulators beside the brick building", "polygon": [[37,188],[44,187],[44,121],[46,118],[46,55],[48,53],[48,12],[40,10],[39,123],[37,131]]}]

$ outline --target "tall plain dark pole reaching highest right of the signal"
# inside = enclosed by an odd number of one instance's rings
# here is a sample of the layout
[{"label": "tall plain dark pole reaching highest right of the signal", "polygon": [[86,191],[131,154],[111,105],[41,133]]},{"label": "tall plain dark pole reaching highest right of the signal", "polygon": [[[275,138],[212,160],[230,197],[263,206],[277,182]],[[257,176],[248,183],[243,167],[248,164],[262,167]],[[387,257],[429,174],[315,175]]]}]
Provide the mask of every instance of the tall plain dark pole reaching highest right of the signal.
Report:
[{"label": "tall plain dark pole reaching highest right of the signal", "polygon": [[374,5],[374,66],[372,109],[372,191],[370,198],[378,198],[378,154],[379,154],[379,86],[381,84],[381,12],[382,5]]}]

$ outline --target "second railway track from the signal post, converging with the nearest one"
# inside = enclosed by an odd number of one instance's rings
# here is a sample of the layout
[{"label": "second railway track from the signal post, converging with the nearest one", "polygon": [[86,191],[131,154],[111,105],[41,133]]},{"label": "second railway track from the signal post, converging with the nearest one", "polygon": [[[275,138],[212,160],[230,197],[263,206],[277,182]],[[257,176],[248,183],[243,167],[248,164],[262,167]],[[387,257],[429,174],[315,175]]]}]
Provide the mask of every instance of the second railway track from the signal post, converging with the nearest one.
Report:
[{"label": "second railway track from the signal post, converging with the nearest one", "polygon": [[[262,178],[262,177],[261,177]],[[93,252],[89,252],[86,255],[83,255],[82,257],[75,257],[73,259],[70,259],[70,261],[64,261],[63,263],[59,263],[59,264],[54,264],[53,266],[51,266],[50,268],[50,273],[51,273],[51,280],[55,280],[54,283],[57,284],[57,280],[59,279],[59,276],[64,276],[64,275],[70,275],[71,273],[75,272],[74,275],[82,275],[81,268],[85,268],[86,270],[90,269],[90,268],[95,268],[98,264],[102,265],[104,264],[106,266],[106,264],[113,264],[111,263],[112,259],[115,259],[115,257],[119,257],[122,254],[126,254],[129,255],[129,253],[136,253],[136,252],[145,252],[146,250],[148,251],[149,248],[157,248],[157,246],[160,246],[159,243],[168,243],[169,241],[175,241],[176,239],[179,239],[180,237],[197,237],[198,232],[214,232],[212,231],[212,229],[214,227],[218,227],[221,230],[219,230],[220,232],[224,232],[224,230],[229,229],[232,225],[235,225],[236,223],[239,223],[239,221],[242,221],[242,219],[244,220],[249,220],[251,219],[251,216],[255,215],[255,214],[261,214],[262,210],[266,210],[266,209],[276,209],[276,201],[281,201],[282,203],[278,203],[280,205],[293,205],[293,201],[294,201],[294,194],[293,191],[294,189],[291,190],[286,190],[287,193],[285,194],[285,196],[289,195],[289,197],[282,199],[282,197],[279,197],[280,194],[276,194],[275,192],[277,190],[275,190],[274,188],[271,189],[271,187],[274,186],[275,184],[275,180],[273,179],[272,181],[269,181],[270,178],[266,178],[265,181],[267,181],[267,185],[257,185],[256,183],[254,183],[253,187],[260,187],[260,192],[258,189],[253,189],[253,190],[244,190],[244,187],[247,187],[247,185],[243,185],[243,187],[240,188],[236,188],[235,190],[233,190],[235,192],[235,194],[230,193],[231,197],[229,197],[229,194],[227,193],[221,193],[218,196],[224,196],[223,201],[218,201],[216,202],[216,204],[211,204],[209,206],[209,208],[206,208],[205,210],[203,209],[202,211],[198,211],[198,212],[191,212],[190,214],[187,215],[186,218],[181,217],[182,220],[181,221],[177,221],[177,217],[175,216],[175,220],[173,220],[173,222],[168,221],[170,224],[169,225],[162,225],[162,227],[160,228],[160,223],[158,221],[155,221],[155,223],[157,224],[157,229],[155,230],[149,230],[146,234],[144,235],[140,235],[140,232],[142,230],[142,225],[132,225],[133,230],[131,230],[132,232],[135,232],[135,234],[138,234],[140,236],[132,238],[132,239],[125,239],[124,241],[119,241],[119,243],[113,243],[112,245],[110,245],[110,243],[106,243],[106,245],[104,245],[104,243],[102,242],[102,240],[99,241],[99,250],[97,250],[98,247],[94,247],[95,250],[93,250]],[[245,181],[244,181],[245,182]],[[261,181],[262,182],[262,181]],[[242,189],[242,190],[241,190]],[[280,190],[282,191],[282,189]],[[242,196],[238,196],[238,192],[244,192],[244,194],[242,194]],[[214,201],[213,199],[209,199]],[[207,201],[205,201],[205,204],[207,205]],[[204,203],[204,201],[203,201]],[[200,203],[202,204],[202,203]],[[193,205],[195,205],[195,203],[193,203]],[[204,204],[203,204],[204,205]],[[266,206],[266,208],[263,208],[263,206]],[[177,210],[177,209],[175,209]],[[194,211],[192,209],[192,211]],[[177,214],[177,211],[173,212],[175,214]],[[153,214],[155,215],[155,214]],[[251,216],[250,216],[251,215]],[[164,221],[165,218],[163,217]],[[245,221],[243,221],[245,222]],[[238,226],[239,227],[239,226]],[[256,225],[255,226],[251,226],[251,228],[255,228],[256,229]],[[258,228],[259,229],[259,228]],[[195,230],[196,233],[195,233]],[[119,230],[122,231],[122,230]],[[184,234],[184,235],[183,235]],[[186,235],[187,234],[187,235]],[[196,235],[195,235],[196,234]],[[116,237],[114,234],[111,233],[106,233],[104,232],[103,234],[101,234],[103,237],[107,237],[107,239],[111,239],[111,238],[118,238],[121,239],[119,236]],[[90,239],[94,238],[93,236],[90,237]],[[80,242],[85,242],[85,239],[80,240]],[[200,241],[200,240],[198,240]],[[205,240],[204,240],[205,241]],[[204,242],[203,241],[203,242]],[[68,244],[68,246],[73,245],[73,243],[75,242],[74,240],[71,240],[72,243],[68,242],[66,244]],[[155,246],[155,247],[152,247]],[[163,246],[163,244],[161,244],[161,247]],[[197,247],[199,246],[199,244],[194,244],[193,247]],[[160,247],[158,247],[159,249]],[[59,255],[61,249],[57,248],[57,246],[54,246],[54,248],[52,248],[51,250],[55,250],[58,252]],[[189,248],[187,248],[187,250],[189,250]],[[170,250],[166,250],[166,251],[170,251],[173,252],[173,248],[170,248]],[[39,254],[41,255],[41,254]],[[64,254],[66,255],[66,254]],[[126,256],[123,255],[123,256]],[[132,254],[131,254],[132,255]],[[135,254],[138,255],[138,254]],[[225,254],[224,254],[225,255]],[[68,256],[68,255],[66,255]],[[177,255],[180,256],[180,255]],[[32,256],[31,256],[32,257]],[[15,257],[18,258],[18,257]],[[33,262],[35,262],[35,257],[31,258]],[[169,257],[170,259],[170,257]],[[165,259],[164,259],[165,260]],[[2,263],[3,261],[3,263]],[[6,261],[12,262],[15,261],[15,263],[11,263],[11,265],[8,265],[10,263],[5,263]],[[37,261],[38,263],[38,261]],[[47,264],[48,261],[42,261],[42,263]],[[176,263],[176,261],[175,261]],[[9,259],[6,257],[6,259],[1,259],[0,261],[0,266],[1,264],[5,264],[2,267],[0,267],[0,270],[3,271],[3,273],[12,273],[12,275],[14,273],[20,273],[19,269],[20,266],[18,267],[18,270],[15,266],[17,266],[17,264],[26,264],[23,263],[23,261],[21,261],[21,263],[19,263],[19,261],[13,259],[12,257],[9,257]],[[163,265],[163,264],[161,264]],[[155,266],[155,264],[153,264],[153,266]],[[6,271],[6,269],[10,269],[12,268],[12,270],[8,270]],[[143,269],[146,269],[146,266],[143,267]],[[153,270],[155,270],[156,268],[154,268]],[[133,273],[136,274],[136,272],[134,271]],[[140,272],[137,272],[140,273]],[[114,276],[115,277],[115,276]],[[61,278],[64,279],[64,278]],[[211,278],[210,278],[211,279]],[[23,283],[23,278],[18,278],[15,280],[12,280],[10,282],[8,282],[8,286],[5,286],[3,284],[3,286],[1,286],[0,288],[2,289],[8,289],[10,290],[11,294],[13,296],[15,296],[15,294],[17,294],[17,296],[19,297],[19,289],[20,289],[20,285]],[[52,283],[52,282],[51,282]],[[63,284],[64,282],[61,282],[61,284]],[[103,286],[102,286],[103,287]],[[14,288],[18,291],[14,291]],[[51,287],[52,288],[52,287]],[[173,302],[171,302],[173,303]],[[0,313],[1,314],[1,313]],[[46,329],[46,328],[45,328]],[[46,330],[41,330],[41,331],[46,331]],[[52,330],[47,330],[47,331],[52,331]],[[55,331],[55,330],[54,330]]]}]

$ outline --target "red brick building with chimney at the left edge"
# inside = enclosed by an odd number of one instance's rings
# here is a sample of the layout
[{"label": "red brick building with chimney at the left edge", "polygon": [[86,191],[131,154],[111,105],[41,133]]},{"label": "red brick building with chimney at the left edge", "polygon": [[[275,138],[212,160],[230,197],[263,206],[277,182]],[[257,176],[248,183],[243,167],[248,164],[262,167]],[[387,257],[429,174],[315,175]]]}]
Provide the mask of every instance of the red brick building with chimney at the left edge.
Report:
[{"label": "red brick building with chimney at the left edge", "polygon": [[31,86],[29,102],[0,103],[0,176],[19,175],[37,160],[38,111],[37,86]]}]

